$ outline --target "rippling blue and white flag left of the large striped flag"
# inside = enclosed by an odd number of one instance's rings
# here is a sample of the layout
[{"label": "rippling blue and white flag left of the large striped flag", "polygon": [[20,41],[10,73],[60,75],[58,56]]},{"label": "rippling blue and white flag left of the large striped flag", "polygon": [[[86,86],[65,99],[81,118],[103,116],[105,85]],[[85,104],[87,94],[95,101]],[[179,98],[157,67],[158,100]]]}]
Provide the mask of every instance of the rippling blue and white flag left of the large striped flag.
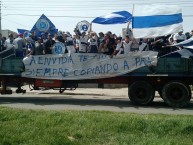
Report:
[{"label": "rippling blue and white flag left of the large striped flag", "polygon": [[97,24],[123,24],[132,19],[132,15],[127,11],[113,12],[105,16],[95,18],[92,23]]}]

